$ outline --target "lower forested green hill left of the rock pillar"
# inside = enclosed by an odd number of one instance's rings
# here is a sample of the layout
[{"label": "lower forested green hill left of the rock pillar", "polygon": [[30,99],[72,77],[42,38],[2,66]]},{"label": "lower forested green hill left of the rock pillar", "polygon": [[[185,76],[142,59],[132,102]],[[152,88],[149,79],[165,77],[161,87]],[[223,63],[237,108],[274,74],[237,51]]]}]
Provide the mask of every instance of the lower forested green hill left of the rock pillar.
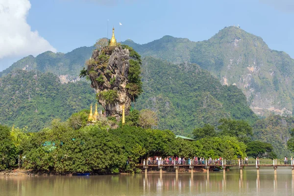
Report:
[{"label": "lower forested green hill left of the rock pillar", "polygon": [[61,84],[53,73],[18,70],[0,78],[0,123],[39,131],[89,108],[94,98],[87,82]]}]

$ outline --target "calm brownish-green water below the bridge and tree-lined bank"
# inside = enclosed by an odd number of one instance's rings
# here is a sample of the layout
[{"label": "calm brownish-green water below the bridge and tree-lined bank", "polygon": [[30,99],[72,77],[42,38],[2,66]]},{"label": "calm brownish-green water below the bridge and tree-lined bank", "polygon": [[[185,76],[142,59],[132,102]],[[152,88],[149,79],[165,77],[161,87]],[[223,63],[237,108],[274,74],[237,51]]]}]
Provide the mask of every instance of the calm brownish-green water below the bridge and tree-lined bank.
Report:
[{"label": "calm brownish-green water below the bridge and tree-lined bank", "polygon": [[289,196],[294,195],[291,168],[222,172],[107,175],[0,176],[0,196]]}]

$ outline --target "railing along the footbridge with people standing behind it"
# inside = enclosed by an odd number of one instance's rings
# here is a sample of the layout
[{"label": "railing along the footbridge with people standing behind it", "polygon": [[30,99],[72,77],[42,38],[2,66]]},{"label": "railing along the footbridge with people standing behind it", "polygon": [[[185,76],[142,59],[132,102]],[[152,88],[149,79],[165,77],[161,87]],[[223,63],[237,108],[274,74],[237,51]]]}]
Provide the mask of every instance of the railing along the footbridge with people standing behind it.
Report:
[{"label": "railing along the footbridge with people standing behind it", "polygon": [[282,159],[274,159],[274,160],[269,160],[269,159],[259,159],[259,160],[194,160],[194,159],[188,159],[188,160],[144,160],[143,165],[158,165],[158,166],[293,166],[294,161],[293,160],[287,160],[284,161]]}]

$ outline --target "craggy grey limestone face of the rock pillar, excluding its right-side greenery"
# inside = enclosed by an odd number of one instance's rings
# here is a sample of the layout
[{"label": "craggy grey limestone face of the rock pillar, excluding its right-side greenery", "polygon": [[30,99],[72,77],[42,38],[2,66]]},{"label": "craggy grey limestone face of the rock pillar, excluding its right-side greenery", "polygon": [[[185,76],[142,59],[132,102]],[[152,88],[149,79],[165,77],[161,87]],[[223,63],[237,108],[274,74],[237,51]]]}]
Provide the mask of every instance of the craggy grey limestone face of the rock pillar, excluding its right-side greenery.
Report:
[{"label": "craggy grey limestone face of the rock pillar, excluding its right-side greenery", "polygon": [[128,49],[116,47],[93,51],[87,72],[106,116],[118,117],[122,114],[123,105],[126,108],[126,115],[128,113],[131,104],[126,89],[128,71]]}]

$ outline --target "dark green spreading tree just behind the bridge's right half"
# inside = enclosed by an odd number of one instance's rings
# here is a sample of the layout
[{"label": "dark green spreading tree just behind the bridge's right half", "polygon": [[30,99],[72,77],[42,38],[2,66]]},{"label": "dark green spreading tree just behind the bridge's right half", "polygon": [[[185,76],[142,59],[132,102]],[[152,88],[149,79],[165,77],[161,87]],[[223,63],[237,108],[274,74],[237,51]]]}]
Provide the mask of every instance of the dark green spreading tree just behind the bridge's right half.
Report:
[{"label": "dark green spreading tree just behind the bridge's right half", "polygon": [[246,153],[253,158],[276,158],[276,154],[272,150],[273,147],[269,143],[252,141],[247,143]]}]

